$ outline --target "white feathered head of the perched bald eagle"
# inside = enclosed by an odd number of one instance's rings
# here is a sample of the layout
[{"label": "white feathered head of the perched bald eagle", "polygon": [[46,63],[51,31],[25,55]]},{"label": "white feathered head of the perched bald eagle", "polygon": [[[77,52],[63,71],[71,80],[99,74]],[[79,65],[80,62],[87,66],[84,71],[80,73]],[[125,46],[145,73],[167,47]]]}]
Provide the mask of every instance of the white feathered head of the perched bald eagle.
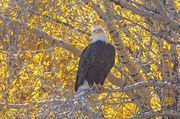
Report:
[{"label": "white feathered head of the perched bald eagle", "polygon": [[100,26],[94,26],[92,28],[92,43],[98,40],[108,42],[104,29]]}]

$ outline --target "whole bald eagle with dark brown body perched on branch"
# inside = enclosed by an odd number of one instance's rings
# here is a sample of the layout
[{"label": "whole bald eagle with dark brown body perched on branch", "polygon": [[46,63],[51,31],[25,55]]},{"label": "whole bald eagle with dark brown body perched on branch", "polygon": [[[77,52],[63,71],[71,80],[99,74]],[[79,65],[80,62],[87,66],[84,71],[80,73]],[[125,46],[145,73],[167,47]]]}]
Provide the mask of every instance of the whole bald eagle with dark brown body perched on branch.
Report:
[{"label": "whole bald eagle with dark brown body perched on branch", "polygon": [[100,26],[92,29],[92,42],[83,50],[78,65],[75,92],[91,89],[94,84],[103,85],[114,66],[115,48],[108,43]]}]

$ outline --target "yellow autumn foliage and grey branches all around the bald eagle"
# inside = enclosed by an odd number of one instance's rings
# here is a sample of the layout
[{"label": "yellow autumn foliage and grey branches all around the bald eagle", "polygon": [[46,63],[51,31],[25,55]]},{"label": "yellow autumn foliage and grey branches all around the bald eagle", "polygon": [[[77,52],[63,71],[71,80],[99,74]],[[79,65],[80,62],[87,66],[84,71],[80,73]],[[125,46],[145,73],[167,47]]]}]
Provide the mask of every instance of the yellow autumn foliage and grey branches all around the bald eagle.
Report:
[{"label": "yellow autumn foliage and grey branches all around the bald eagle", "polygon": [[[1,0],[0,118],[180,118],[178,0]],[[91,29],[116,47],[103,93],[76,98]]]}]

